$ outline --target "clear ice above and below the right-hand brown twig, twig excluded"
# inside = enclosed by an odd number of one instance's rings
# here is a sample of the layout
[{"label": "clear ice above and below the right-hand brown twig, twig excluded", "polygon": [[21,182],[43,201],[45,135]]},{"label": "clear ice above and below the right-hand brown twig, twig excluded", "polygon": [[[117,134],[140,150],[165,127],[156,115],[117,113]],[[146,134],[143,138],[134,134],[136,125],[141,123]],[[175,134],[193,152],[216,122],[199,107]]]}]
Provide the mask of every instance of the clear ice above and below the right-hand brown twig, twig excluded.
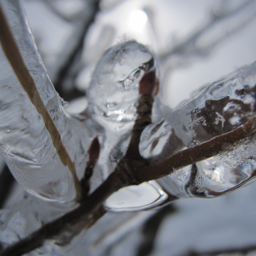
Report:
[{"label": "clear ice above and below the right-hand brown twig, twig excluded", "polygon": [[[256,112],[256,62],[209,84],[195,98],[146,127],[140,153],[152,163],[241,127]],[[177,197],[214,197],[255,175],[255,139],[231,152],[176,170],[157,182]]]}]

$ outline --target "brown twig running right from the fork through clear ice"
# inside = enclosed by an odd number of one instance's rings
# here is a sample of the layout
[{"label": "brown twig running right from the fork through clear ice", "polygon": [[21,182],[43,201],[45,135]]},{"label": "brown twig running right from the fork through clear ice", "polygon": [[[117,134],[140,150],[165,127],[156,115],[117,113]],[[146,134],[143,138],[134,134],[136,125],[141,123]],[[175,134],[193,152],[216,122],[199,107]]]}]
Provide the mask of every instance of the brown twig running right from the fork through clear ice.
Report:
[{"label": "brown twig running right from the fork through clear ice", "polygon": [[256,133],[256,117],[249,119],[243,126],[216,136],[200,145],[196,145],[170,156],[156,164],[134,170],[134,178],[138,183],[162,178],[176,169],[231,151],[241,140],[250,139]]}]

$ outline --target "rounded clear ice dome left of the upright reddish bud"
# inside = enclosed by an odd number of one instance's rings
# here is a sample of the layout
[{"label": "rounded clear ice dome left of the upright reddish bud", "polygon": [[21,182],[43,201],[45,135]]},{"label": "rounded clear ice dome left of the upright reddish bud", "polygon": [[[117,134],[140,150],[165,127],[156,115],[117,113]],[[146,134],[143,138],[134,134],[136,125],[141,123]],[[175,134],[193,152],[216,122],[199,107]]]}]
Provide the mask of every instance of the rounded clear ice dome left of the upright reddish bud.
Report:
[{"label": "rounded clear ice dome left of the upright reddish bud", "polygon": [[156,69],[152,53],[135,41],[107,50],[100,58],[88,90],[94,111],[115,122],[136,119],[139,82]]}]

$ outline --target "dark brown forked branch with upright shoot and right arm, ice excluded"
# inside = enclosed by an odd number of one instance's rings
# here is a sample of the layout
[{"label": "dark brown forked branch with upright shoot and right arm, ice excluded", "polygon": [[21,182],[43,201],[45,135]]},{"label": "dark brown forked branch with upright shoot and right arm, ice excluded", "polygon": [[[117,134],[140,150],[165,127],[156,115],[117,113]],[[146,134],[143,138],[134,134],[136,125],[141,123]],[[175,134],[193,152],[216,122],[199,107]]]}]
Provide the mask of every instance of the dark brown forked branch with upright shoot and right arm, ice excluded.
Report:
[{"label": "dark brown forked branch with upright shoot and right arm, ice excluded", "polygon": [[206,142],[181,150],[156,164],[148,165],[147,160],[143,159],[139,154],[137,135],[140,135],[145,125],[151,122],[152,99],[152,96],[148,94],[142,94],[140,97],[137,110],[138,116],[132,131],[129,147],[125,156],[117,163],[114,172],[89,197],[85,198],[78,208],[46,224],[32,233],[27,239],[6,248],[0,253],[1,256],[21,255],[29,252],[41,246],[45,239],[54,238],[67,227],[77,225],[80,221],[88,222],[91,220],[95,222],[96,220],[91,218],[96,216],[97,219],[101,216],[97,212],[106,198],[124,186],[140,184],[144,181],[167,176],[183,166],[223,154],[224,152],[232,152],[234,148],[243,144],[246,145],[248,141],[255,138],[256,117],[251,117],[243,125],[230,132],[217,135]]}]

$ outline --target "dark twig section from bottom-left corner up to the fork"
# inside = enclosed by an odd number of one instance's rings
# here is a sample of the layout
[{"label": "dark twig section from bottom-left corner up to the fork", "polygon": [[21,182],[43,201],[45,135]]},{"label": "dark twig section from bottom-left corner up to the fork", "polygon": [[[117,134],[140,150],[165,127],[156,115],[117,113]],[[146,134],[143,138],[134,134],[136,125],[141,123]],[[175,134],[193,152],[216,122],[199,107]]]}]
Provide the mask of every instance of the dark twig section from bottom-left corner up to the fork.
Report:
[{"label": "dark twig section from bottom-left corner up to the fork", "polygon": [[33,232],[28,238],[7,247],[0,252],[1,256],[19,256],[28,253],[33,249],[39,248],[46,239],[55,238],[58,234],[70,225],[76,225],[80,221],[91,219],[95,211],[101,207],[102,203],[115,191],[123,187],[124,184],[119,179],[117,172],[112,173],[92,194],[86,198],[80,206],[68,212],[57,220],[47,223],[37,231]]}]

